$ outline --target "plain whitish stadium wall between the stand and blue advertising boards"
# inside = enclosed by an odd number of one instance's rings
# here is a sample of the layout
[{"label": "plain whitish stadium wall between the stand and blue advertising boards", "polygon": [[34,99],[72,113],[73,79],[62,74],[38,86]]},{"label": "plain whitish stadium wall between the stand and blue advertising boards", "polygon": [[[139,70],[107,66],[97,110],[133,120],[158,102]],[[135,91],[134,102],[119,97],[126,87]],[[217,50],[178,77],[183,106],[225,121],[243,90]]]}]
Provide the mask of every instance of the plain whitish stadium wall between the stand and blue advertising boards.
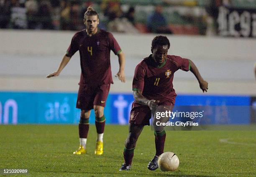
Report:
[{"label": "plain whitish stadium wall between the stand and blue advertising boards", "polygon": [[[74,32],[43,30],[0,30],[0,90],[77,92],[80,76],[77,52],[58,78],[45,76],[56,70]],[[131,93],[135,66],[151,51],[154,34],[114,33],[126,56],[125,84],[115,79],[110,92]],[[255,39],[168,35],[170,54],[189,58],[209,82],[209,94],[255,95],[253,66]],[[118,60],[111,57],[113,75]],[[177,71],[174,88],[178,94],[201,94],[192,73]]]}]

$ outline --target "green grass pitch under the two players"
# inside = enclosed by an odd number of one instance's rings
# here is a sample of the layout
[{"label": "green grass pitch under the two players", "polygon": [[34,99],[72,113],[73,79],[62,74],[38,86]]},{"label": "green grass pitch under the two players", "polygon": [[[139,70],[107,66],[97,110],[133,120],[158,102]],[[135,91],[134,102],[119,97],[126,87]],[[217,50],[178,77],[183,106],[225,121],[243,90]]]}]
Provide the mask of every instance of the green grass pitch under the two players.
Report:
[{"label": "green grass pitch under the two players", "polygon": [[175,172],[147,169],[155,153],[149,126],[137,142],[132,170],[119,172],[127,134],[128,126],[106,125],[104,154],[95,156],[96,130],[90,125],[87,154],[73,155],[79,146],[77,125],[1,125],[0,176],[3,169],[28,169],[14,175],[26,177],[256,176],[256,131],[166,131],[164,151],[180,160]]}]

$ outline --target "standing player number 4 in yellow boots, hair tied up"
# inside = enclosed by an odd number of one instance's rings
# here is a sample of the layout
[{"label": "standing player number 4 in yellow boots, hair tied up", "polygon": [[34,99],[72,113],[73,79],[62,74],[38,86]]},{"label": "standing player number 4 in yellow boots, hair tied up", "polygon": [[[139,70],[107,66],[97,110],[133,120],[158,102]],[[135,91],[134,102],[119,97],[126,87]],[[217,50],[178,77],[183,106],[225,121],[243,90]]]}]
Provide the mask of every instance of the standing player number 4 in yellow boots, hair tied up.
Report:
[{"label": "standing player number 4 in yellow boots, hair tied up", "polygon": [[80,146],[74,154],[86,153],[87,134],[89,131],[89,117],[91,109],[95,111],[95,125],[97,129],[97,142],[95,154],[103,153],[103,132],[105,127],[104,107],[113,83],[110,67],[110,50],[119,59],[119,71],[116,77],[125,82],[125,56],[113,35],[98,28],[99,15],[91,7],[84,13],[84,25],[86,28],[75,33],[71,44],[64,55],[56,72],[47,76],[59,76],[70,58],[79,51],[81,77],[77,97],[77,108],[81,109],[79,121]]}]

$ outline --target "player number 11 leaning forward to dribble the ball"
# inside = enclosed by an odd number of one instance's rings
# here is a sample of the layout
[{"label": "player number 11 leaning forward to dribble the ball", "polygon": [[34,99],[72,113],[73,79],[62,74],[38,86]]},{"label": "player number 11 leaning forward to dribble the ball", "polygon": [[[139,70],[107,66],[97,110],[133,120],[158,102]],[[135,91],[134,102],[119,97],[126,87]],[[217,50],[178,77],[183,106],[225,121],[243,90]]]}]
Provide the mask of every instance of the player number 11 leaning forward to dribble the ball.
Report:
[{"label": "player number 11 leaning forward to dribble the ball", "polygon": [[[162,35],[156,36],[151,44],[152,54],[136,66],[133,78],[135,101],[131,109],[129,134],[125,140],[123,151],[125,162],[122,164],[120,171],[131,169],[136,142],[143,127],[149,125],[151,111],[153,115],[156,111],[162,111],[161,109],[172,111],[177,96],[172,84],[174,72],[179,69],[191,71],[196,76],[202,91],[205,92],[208,89],[208,83],[201,77],[195,64],[189,59],[168,55],[169,47],[168,38]],[[161,117],[160,120],[161,122],[167,122],[169,117]],[[164,152],[166,137],[164,126],[156,126],[155,121],[154,116],[156,154],[148,163],[148,169],[150,170],[158,168],[157,160],[159,155]]]}]

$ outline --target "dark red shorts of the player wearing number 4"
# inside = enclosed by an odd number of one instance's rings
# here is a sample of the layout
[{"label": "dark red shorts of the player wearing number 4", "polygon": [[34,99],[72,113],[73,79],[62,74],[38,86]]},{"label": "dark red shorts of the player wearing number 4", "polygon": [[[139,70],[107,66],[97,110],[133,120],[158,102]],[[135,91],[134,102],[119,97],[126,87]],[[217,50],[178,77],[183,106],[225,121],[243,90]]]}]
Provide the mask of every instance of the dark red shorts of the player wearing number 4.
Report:
[{"label": "dark red shorts of the player wearing number 4", "polygon": [[101,86],[80,85],[77,96],[77,108],[84,110],[93,109],[93,105],[106,106],[110,84]]}]

